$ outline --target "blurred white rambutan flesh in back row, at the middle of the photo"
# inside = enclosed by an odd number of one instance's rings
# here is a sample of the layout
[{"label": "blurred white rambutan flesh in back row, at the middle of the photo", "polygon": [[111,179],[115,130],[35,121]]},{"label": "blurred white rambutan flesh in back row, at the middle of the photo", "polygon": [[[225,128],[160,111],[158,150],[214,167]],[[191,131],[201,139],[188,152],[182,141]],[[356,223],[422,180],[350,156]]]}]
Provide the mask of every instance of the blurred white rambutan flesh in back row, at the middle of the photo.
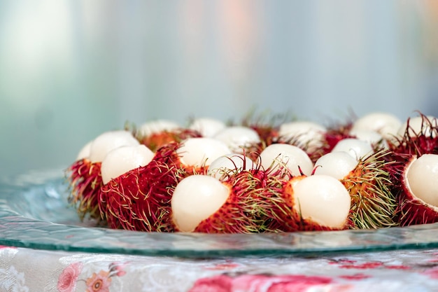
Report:
[{"label": "blurred white rambutan flesh in back row, at the middle of the photo", "polygon": [[214,139],[227,144],[234,153],[243,153],[243,149],[260,143],[259,134],[250,127],[243,126],[225,127],[214,135]]}]

